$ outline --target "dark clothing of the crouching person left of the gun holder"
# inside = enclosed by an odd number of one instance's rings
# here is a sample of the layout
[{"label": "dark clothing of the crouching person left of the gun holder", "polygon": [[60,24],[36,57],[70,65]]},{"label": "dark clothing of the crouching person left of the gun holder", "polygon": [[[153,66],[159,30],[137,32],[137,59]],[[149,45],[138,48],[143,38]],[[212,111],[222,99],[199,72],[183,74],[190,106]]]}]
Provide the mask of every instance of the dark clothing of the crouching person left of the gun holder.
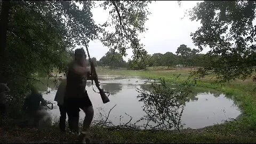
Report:
[{"label": "dark clothing of the crouching person left of the gun holder", "polygon": [[25,100],[24,109],[27,111],[37,111],[40,109],[40,102],[42,102],[42,105],[46,105],[42,94],[31,93]]}]

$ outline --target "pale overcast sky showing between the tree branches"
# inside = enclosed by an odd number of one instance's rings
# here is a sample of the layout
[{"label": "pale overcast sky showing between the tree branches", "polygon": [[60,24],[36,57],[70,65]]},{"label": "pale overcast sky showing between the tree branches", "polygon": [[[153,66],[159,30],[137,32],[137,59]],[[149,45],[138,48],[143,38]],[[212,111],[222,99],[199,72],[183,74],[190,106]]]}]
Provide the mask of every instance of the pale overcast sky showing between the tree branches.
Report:
[{"label": "pale overcast sky showing between the tree branches", "polygon": [[[179,6],[177,1],[156,1],[149,5],[151,14],[145,23],[148,30],[140,35],[148,54],[175,53],[181,44],[197,49],[190,33],[196,31],[201,24],[199,21],[189,20],[188,16],[184,17],[186,10],[193,8],[197,2],[200,1],[182,1]],[[96,23],[102,24],[109,17],[108,12],[101,8],[93,9],[92,13]],[[99,41],[89,43],[90,55],[97,60],[103,57],[108,50],[108,47],[103,46]],[[207,50],[204,50],[201,53],[206,52]],[[124,60],[127,61],[132,56],[132,50],[126,53],[128,55],[124,57]]]}]

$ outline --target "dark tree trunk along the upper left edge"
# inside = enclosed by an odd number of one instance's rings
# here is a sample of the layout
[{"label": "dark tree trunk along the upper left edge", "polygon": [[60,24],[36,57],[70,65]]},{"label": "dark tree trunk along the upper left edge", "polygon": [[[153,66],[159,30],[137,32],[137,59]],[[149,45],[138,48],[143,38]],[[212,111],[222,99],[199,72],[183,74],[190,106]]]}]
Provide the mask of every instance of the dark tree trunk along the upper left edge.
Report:
[{"label": "dark tree trunk along the upper left edge", "polygon": [[8,26],[8,17],[9,17],[9,10],[10,10],[10,1],[2,1],[2,10],[0,16],[0,73],[1,76],[5,77],[6,68],[4,67],[6,63],[6,44],[7,44],[7,26]]}]

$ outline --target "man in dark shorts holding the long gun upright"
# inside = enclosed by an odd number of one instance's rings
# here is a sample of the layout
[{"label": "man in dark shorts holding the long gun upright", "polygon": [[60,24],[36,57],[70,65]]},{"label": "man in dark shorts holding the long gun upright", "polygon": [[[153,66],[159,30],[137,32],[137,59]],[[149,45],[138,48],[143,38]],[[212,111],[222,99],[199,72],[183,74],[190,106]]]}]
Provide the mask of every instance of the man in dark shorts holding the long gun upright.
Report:
[{"label": "man in dark shorts holding the long gun upright", "polygon": [[[81,108],[85,113],[83,122],[83,128],[79,134],[79,141],[84,143],[89,141],[89,127],[93,118],[92,102],[85,90],[87,76],[91,73],[91,69],[86,65],[86,54],[84,50],[75,50],[75,60],[70,63],[67,75],[67,99],[65,99],[65,105],[67,105],[68,117],[72,116],[72,125],[78,132],[78,117]],[[78,115],[77,115],[78,114]]]}]

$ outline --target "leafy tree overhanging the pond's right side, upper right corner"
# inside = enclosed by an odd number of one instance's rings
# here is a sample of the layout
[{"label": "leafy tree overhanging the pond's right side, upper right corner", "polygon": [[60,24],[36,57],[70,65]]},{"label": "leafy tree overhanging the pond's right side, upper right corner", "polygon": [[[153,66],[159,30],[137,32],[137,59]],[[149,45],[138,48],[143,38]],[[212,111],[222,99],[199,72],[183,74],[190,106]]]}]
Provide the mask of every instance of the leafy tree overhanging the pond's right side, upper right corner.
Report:
[{"label": "leafy tree overhanging the pond's right side, upper right corner", "polygon": [[213,72],[226,82],[252,75],[256,66],[255,7],[255,1],[204,1],[190,11],[190,19],[202,24],[191,34],[193,42],[200,50],[211,49],[199,76]]}]

